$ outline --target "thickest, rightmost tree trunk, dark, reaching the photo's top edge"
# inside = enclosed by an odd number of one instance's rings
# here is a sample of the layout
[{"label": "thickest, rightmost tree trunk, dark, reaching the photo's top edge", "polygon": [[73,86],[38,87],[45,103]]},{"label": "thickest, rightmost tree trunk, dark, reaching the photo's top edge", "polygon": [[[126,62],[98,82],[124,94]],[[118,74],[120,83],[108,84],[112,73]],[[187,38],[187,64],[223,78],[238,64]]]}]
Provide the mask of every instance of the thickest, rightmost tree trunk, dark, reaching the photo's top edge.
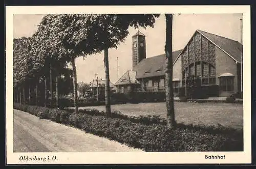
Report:
[{"label": "thickest, rightmost tree trunk, dark, reaching the photo's top edge", "polygon": [[165,40],[165,95],[167,109],[167,128],[175,128],[174,98],[173,98],[173,15],[165,14],[166,40]]}]

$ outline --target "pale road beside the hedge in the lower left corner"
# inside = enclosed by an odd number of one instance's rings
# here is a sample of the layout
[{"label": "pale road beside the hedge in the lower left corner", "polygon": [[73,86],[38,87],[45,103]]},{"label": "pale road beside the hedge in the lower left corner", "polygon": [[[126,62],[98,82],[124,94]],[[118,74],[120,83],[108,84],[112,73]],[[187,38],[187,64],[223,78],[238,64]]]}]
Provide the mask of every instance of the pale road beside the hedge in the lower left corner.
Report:
[{"label": "pale road beside the hedge in the lower left corner", "polygon": [[132,149],[82,130],[14,109],[14,152],[128,152]]}]

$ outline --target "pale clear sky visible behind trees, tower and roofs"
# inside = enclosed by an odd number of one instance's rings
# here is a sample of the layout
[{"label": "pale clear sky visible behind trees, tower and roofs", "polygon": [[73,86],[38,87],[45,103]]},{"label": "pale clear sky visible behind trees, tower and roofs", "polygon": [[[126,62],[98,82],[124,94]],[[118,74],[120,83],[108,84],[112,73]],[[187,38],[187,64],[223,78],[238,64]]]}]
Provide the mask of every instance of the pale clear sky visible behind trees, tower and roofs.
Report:
[{"label": "pale clear sky visible behind trees, tower and roofs", "polygon": [[[19,14],[13,16],[13,38],[23,36],[31,37],[37,30],[44,15],[40,14]],[[180,50],[185,47],[196,30],[224,36],[236,41],[241,41],[242,14],[181,14],[173,17],[173,50]],[[165,17],[163,14],[156,19],[154,28],[143,29],[129,28],[129,35],[117,49],[109,49],[110,81],[116,83],[117,77],[121,77],[127,70],[132,70],[132,36],[137,31],[142,32],[146,37],[146,58],[164,53],[165,45]],[[118,64],[117,64],[118,57]],[[77,69],[77,82],[89,83],[95,78],[105,79],[103,52],[93,54],[86,59],[75,60]],[[117,65],[118,75],[117,75]]]}]

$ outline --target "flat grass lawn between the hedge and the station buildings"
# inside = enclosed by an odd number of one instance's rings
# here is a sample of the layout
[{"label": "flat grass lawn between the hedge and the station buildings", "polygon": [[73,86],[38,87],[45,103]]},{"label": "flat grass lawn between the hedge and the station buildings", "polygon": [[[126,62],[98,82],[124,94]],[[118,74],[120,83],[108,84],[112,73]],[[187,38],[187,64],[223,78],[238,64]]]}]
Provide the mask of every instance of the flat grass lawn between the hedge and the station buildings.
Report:
[{"label": "flat grass lawn between the hedge and the station buildings", "polygon": [[[226,127],[243,128],[243,104],[175,102],[174,106],[178,123],[214,126],[221,124]],[[105,110],[105,106],[79,107],[83,108]],[[111,109],[132,116],[156,115],[166,118],[165,103],[117,104],[111,105]]]}]

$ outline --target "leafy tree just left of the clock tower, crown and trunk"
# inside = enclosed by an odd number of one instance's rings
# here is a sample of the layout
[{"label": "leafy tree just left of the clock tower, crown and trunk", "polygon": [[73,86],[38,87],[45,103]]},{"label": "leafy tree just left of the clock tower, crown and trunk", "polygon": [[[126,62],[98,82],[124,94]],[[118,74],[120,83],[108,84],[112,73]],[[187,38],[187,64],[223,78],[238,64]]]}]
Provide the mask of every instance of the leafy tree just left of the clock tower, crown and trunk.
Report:
[{"label": "leafy tree just left of the clock tower, crown and trunk", "polygon": [[105,67],[105,109],[106,116],[111,117],[110,105],[110,75],[109,75],[109,48],[117,48],[120,42],[123,42],[129,32],[129,26],[154,27],[155,18],[159,14],[101,14],[87,15],[91,20],[91,29],[89,35],[95,35],[95,46],[99,52],[104,51]]}]

